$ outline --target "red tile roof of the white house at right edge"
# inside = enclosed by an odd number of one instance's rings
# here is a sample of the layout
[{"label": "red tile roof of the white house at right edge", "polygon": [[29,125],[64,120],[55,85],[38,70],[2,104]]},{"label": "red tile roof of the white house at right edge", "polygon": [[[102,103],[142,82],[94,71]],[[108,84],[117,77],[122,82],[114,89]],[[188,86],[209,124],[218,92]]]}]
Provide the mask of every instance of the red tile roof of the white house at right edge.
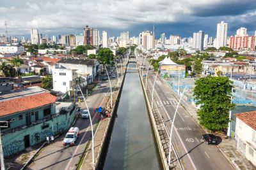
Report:
[{"label": "red tile roof of the white house at right edge", "polygon": [[235,114],[237,118],[256,131],[256,111]]}]

